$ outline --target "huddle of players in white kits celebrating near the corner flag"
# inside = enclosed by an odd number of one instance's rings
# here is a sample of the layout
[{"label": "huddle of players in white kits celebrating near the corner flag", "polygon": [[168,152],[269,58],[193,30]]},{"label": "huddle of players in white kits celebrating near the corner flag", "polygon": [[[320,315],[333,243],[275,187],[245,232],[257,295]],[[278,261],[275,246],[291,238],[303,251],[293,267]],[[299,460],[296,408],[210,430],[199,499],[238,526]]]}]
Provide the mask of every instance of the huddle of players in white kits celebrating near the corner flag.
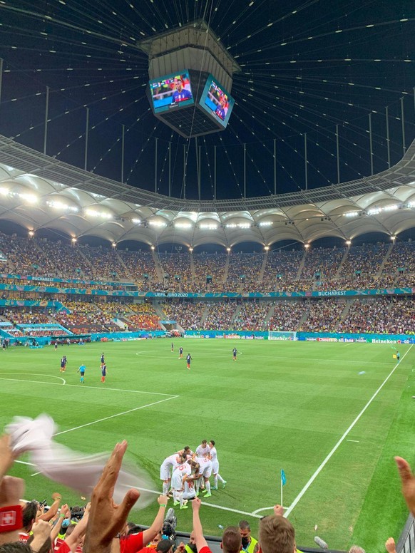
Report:
[{"label": "huddle of players in white kits celebrating near the corner flag", "polygon": [[[213,475],[213,486],[210,477]],[[200,490],[205,497],[211,497],[211,490],[217,490],[217,482],[225,487],[226,480],[219,474],[219,460],[215,448],[215,440],[207,440],[198,445],[195,453],[186,445],[160,466],[160,480],[163,480],[163,495],[171,493],[174,505],[187,509],[188,500],[198,497]]]}]

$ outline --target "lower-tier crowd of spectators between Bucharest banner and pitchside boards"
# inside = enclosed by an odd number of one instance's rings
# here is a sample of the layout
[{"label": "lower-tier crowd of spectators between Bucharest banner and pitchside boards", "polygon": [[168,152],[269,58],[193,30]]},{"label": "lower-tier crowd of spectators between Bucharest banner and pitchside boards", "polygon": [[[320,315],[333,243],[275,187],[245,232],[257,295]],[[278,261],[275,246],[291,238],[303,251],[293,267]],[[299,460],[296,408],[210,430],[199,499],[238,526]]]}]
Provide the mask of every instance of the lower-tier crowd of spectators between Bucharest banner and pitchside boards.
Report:
[{"label": "lower-tier crowd of spectators between Bucharest banner and pitchside boards", "polygon": [[[415,299],[407,296],[364,296],[348,301],[333,297],[275,301],[166,299],[160,304],[160,316],[150,301],[78,301],[73,296],[61,301],[66,309],[58,311],[40,307],[3,309],[3,320],[10,323],[3,330],[21,336],[25,334],[24,327],[17,329],[16,325],[58,323],[73,334],[150,331],[161,329],[162,318],[176,321],[185,330],[415,333]],[[56,336],[52,326],[44,332],[36,329],[33,336]]]}]

